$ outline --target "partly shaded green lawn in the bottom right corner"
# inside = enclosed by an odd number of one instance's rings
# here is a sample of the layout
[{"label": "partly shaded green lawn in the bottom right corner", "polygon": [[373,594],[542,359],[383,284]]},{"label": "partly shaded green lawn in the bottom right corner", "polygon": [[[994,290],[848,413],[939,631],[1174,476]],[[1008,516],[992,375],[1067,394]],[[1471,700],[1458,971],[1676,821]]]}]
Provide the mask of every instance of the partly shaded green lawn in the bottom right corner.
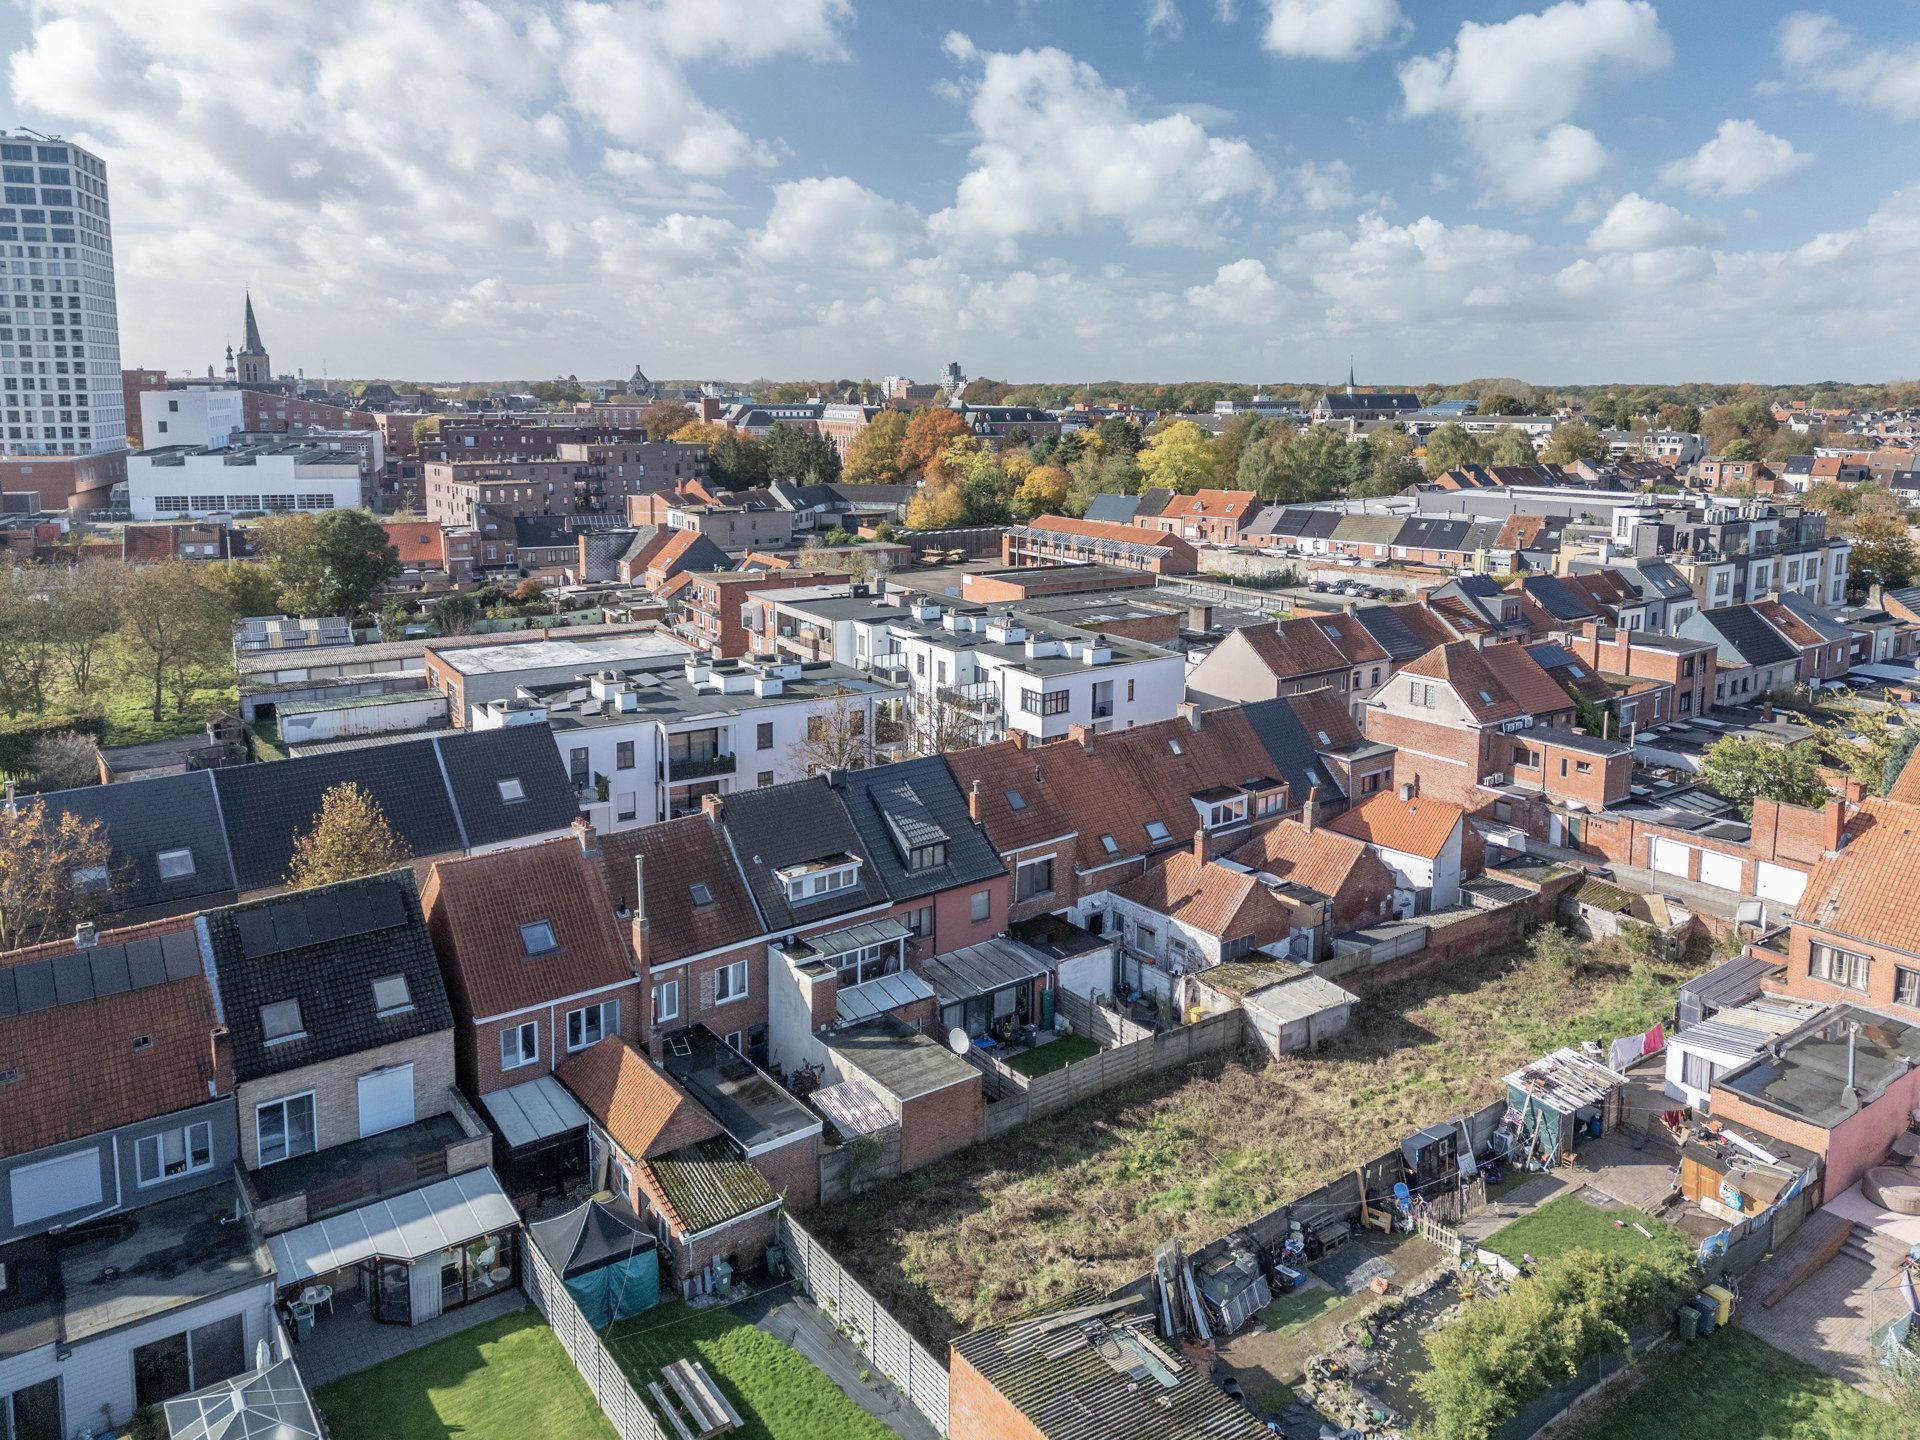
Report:
[{"label": "partly shaded green lawn in the bottom right corner", "polygon": [[1578,1427],[1571,1440],[1720,1434],[1895,1440],[1903,1427],[1885,1402],[1728,1329],[1653,1359],[1632,1392]]}]

